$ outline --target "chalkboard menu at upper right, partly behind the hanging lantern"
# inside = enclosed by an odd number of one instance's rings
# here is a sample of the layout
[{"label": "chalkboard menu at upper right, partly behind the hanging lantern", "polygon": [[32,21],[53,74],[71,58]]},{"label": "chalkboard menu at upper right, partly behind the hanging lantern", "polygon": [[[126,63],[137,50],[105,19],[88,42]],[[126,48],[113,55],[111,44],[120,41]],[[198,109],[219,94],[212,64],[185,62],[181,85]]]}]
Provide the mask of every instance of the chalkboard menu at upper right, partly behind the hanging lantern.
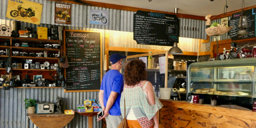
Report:
[{"label": "chalkboard menu at upper right, partly behind the hanging lantern", "polygon": [[255,37],[256,9],[246,10],[246,11],[244,11],[244,13],[246,14],[246,19],[247,19],[247,24],[248,24],[247,28],[245,28],[245,29],[247,29],[248,34],[244,35],[244,36],[237,35],[237,32],[240,30],[240,28],[238,26],[239,26],[241,12],[234,13],[228,22],[228,26],[233,26],[233,28],[228,32],[228,35],[231,37],[232,41]]}]

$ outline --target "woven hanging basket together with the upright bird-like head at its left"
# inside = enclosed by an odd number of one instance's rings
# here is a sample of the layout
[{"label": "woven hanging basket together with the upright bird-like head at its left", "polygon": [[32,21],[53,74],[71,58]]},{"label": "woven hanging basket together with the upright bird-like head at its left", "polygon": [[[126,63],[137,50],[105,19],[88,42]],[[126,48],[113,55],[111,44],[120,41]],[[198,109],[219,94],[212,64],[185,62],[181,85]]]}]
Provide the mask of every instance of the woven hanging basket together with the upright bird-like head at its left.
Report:
[{"label": "woven hanging basket together with the upright bird-like head at its left", "polygon": [[[211,14],[207,15],[205,17],[205,19],[207,20],[206,23],[205,23],[207,27],[211,26],[210,17],[211,17]],[[211,27],[211,28],[206,28],[205,32],[209,36],[223,35],[223,34],[227,33],[231,28],[233,28],[233,26],[231,26],[231,27],[223,27],[223,26]]]}]

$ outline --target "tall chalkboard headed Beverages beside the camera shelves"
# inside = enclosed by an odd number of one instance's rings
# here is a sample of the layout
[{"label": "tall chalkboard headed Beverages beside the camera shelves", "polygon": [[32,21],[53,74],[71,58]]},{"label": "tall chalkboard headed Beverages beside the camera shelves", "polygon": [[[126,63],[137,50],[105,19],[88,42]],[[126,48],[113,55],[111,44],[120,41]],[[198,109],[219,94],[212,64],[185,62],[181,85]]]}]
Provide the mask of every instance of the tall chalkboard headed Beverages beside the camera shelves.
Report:
[{"label": "tall chalkboard headed Beverages beside the camera shelves", "polygon": [[100,32],[64,30],[64,51],[69,67],[65,70],[65,92],[100,90]]}]

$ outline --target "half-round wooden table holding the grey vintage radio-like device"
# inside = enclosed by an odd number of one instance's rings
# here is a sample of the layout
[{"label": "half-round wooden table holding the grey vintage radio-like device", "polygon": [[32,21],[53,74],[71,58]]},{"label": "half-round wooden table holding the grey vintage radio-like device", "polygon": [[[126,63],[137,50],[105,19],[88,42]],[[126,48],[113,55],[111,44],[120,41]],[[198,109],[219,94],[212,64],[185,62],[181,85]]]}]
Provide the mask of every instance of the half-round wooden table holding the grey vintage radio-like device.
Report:
[{"label": "half-round wooden table holding the grey vintage radio-like device", "polygon": [[62,128],[66,126],[74,115],[67,114],[26,114],[39,128]]}]

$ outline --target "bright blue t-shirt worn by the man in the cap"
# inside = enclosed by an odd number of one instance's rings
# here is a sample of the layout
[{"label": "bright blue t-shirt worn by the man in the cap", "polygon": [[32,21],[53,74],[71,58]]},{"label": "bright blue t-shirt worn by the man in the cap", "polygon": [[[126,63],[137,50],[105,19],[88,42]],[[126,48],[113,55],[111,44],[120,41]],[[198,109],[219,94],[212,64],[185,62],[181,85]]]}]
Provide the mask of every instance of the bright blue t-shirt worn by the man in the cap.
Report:
[{"label": "bright blue t-shirt worn by the man in the cap", "polygon": [[124,77],[118,70],[109,70],[103,77],[100,90],[104,90],[103,102],[106,107],[111,91],[117,92],[117,98],[109,109],[109,115],[121,115],[120,99],[124,89]]}]

